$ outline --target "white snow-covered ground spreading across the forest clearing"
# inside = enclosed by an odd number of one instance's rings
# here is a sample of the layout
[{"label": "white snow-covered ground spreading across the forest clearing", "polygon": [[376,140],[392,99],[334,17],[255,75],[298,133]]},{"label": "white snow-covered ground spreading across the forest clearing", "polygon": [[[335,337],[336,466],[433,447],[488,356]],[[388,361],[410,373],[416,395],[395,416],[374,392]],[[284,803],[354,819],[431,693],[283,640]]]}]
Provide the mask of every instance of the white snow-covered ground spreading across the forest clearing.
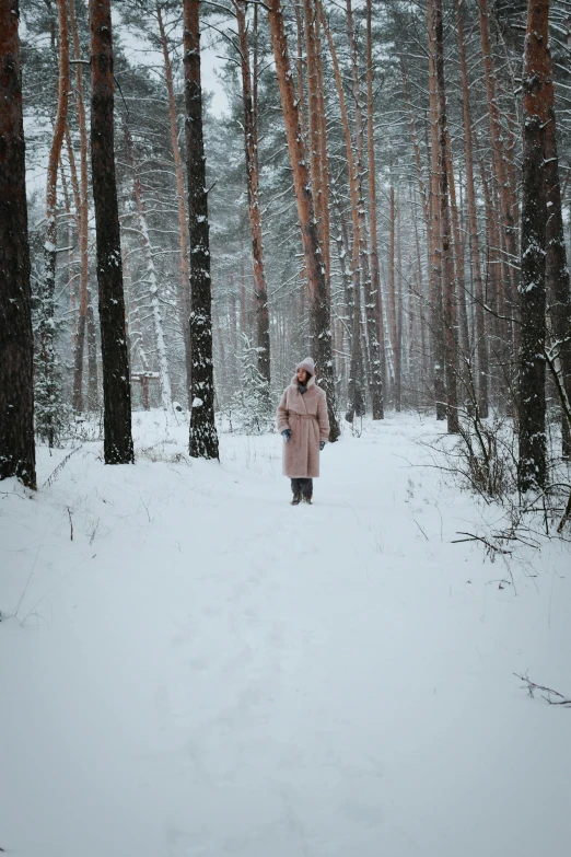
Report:
[{"label": "white snow-covered ground spreading across the forest clearing", "polygon": [[327,447],[312,508],[277,435],[218,464],[133,428],[136,466],[84,442],[0,485],[0,847],[569,853],[571,711],[513,675],[571,695],[568,547],[452,544],[482,512],[419,466],[431,420]]}]

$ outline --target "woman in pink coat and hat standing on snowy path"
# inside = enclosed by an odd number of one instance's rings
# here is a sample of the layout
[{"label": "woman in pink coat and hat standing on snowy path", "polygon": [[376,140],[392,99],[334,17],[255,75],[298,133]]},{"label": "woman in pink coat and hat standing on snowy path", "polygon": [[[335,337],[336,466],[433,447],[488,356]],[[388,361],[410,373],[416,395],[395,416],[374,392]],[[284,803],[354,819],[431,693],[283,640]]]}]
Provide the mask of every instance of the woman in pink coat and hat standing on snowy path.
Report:
[{"label": "woman in pink coat and hat standing on snowy path", "polygon": [[295,367],[278,407],[283,444],[283,475],[291,479],[292,506],[311,503],[313,479],[319,475],[319,452],[329,439],[325,392],[315,383],[315,364],[306,357]]}]

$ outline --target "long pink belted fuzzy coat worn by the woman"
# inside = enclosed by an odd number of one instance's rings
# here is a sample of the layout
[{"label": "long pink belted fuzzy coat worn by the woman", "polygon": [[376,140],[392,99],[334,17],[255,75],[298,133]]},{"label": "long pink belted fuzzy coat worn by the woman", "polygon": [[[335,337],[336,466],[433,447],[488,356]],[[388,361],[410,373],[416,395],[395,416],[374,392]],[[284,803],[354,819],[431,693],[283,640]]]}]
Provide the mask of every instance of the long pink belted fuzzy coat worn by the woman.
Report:
[{"label": "long pink belted fuzzy coat worn by the woman", "polygon": [[283,444],[283,475],[291,479],[319,475],[319,441],[329,438],[327,398],[310,378],[303,395],[294,377],[286,387],[278,407],[278,431],[291,429],[289,443]]}]

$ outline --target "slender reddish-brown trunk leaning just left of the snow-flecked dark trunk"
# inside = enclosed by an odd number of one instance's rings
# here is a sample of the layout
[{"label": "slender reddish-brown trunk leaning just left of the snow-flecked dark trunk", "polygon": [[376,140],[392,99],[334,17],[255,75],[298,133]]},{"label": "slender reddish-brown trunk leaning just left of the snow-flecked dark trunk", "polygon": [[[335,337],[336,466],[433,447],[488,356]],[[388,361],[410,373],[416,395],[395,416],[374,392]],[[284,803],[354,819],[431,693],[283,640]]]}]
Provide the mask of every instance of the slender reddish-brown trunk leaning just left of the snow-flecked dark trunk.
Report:
[{"label": "slender reddish-brown trunk leaning just left of the snow-flecked dark trunk", "polygon": [[185,206],[185,176],[183,172],[183,159],[180,157],[180,147],[178,146],[178,128],[176,127],[176,101],[174,94],[173,69],[171,66],[171,55],[168,53],[168,42],[164,30],[163,13],[161,7],[156,7],[156,22],[159,24],[159,37],[163,50],[164,76],[166,81],[166,92],[168,95],[168,121],[171,130],[171,148],[176,175],[176,196],[178,200],[178,233],[180,243],[180,285],[178,287],[178,316],[183,331],[183,341],[185,346],[185,368],[186,368],[186,393],[188,397],[188,409],[191,406],[190,379],[193,375],[193,364],[190,360],[190,273],[188,269],[188,223],[186,220]]}]

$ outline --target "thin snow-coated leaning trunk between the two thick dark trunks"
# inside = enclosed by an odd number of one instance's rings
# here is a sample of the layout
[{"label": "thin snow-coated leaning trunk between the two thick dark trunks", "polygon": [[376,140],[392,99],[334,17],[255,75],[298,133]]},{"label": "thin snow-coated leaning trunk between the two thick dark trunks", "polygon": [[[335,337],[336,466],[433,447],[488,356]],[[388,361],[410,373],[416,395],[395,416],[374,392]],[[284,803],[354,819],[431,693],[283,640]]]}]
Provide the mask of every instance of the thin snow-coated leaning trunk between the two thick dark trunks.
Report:
[{"label": "thin snow-coated leaning trunk between the two thick dark trunks", "polygon": [[127,149],[127,160],[129,166],[132,170],[132,184],[135,192],[135,205],[137,207],[137,216],[139,219],[139,233],[141,236],[141,245],[144,258],[144,266],[147,268],[147,285],[149,287],[149,304],[151,306],[151,314],[153,319],[154,339],[156,343],[156,354],[159,357],[159,382],[161,385],[161,406],[163,410],[170,410],[173,402],[173,394],[171,390],[171,377],[168,374],[168,362],[166,359],[166,343],[164,340],[164,325],[163,316],[161,314],[161,304],[159,303],[159,279],[156,277],[156,269],[154,267],[153,251],[151,247],[151,240],[149,236],[149,223],[147,220],[147,209],[144,206],[144,199],[142,196],[141,179],[137,172],[137,165],[135,163],[135,157],[132,153],[132,139],[127,117],[125,117],[125,143]]}]

